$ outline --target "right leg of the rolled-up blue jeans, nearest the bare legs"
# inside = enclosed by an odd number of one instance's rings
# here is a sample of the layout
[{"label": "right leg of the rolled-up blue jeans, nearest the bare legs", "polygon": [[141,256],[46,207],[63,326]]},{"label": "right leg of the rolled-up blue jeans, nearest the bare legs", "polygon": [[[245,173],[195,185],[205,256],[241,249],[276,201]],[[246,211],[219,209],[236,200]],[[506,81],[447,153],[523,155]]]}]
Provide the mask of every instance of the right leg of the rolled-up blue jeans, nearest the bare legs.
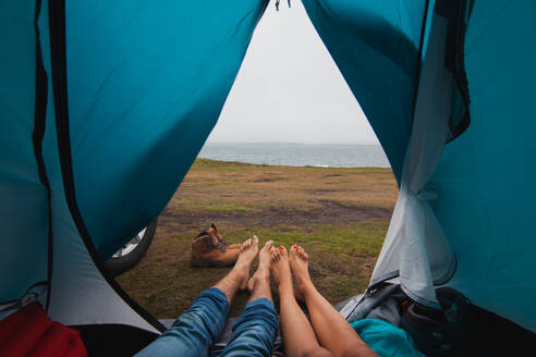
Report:
[{"label": "right leg of the rolled-up blue jeans, nearest the bare legs", "polygon": [[266,297],[251,301],[234,322],[231,341],[221,356],[271,356],[278,325],[272,301]]}]

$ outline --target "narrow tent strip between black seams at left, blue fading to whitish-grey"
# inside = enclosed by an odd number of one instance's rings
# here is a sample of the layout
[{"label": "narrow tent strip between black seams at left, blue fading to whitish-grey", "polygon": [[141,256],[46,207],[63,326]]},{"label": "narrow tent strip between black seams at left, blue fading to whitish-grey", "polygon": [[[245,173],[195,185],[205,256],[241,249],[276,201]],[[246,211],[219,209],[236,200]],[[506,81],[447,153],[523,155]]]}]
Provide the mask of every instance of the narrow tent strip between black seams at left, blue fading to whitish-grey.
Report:
[{"label": "narrow tent strip between black seams at left, blue fading to whitish-grey", "polygon": [[[73,212],[66,201],[68,182],[72,177],[64,172],[64,162],[60,149],[57,128],[58,108],[61,99],[57,97],[57,81],[52,63],[52,53],[57,51],[57,45],[52,45],[49,24],[58,26],[60,19],[52,21],[50,13],[60,14],[59,2],[44,1],[38,19],[40,28],[39,38],[42,47],[42,62],[48,73],[48,96],[46,128],[42,137],[42,157],[46,172],[50,183],[50,206],[52,226],[52,258],[51,280],[49,281],[49,299],[47,313],[56,321],[64,324],[87,323],[124,323],[141,329],[158,332],[160,325],[154,319],[147,318],[143,309],[137,307],[113,281],[102,275],[102,270],[97,266],[95,254],[92,255],[92,242],[83,239],[81,230],[75,224]],[[48,11],[49,10],[49,11]],[[64,132],[65,127],[61,127]],[[98,257],[97,257],[98,258]]]}]

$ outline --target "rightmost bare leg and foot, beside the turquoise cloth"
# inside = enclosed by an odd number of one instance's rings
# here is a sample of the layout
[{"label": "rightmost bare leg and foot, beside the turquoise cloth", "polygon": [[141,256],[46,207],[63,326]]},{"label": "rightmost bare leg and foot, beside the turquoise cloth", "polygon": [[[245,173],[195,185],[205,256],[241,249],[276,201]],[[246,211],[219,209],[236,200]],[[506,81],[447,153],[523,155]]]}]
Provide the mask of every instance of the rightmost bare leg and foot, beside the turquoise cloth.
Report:
[{"label": "rightmost bare leg and foot, beside the turquoise cloth", "polygon": [[318,293],[309,276],[308,255],[292,246],[290,264],[294,272],[296,293],[305,300],[315,334],[322,347],[333,356],[376,356],[346,320]]}]

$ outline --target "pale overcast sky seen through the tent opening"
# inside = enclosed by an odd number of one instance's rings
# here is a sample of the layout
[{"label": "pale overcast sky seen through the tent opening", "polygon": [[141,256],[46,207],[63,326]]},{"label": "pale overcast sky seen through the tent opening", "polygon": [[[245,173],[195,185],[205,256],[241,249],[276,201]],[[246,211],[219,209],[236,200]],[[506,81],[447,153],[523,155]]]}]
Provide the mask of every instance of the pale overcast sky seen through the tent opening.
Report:
[{"label": "pale overcast sky seen through the tent opening", "polygon": [[208,141],[378,144],[295,0],[270,2]]}]

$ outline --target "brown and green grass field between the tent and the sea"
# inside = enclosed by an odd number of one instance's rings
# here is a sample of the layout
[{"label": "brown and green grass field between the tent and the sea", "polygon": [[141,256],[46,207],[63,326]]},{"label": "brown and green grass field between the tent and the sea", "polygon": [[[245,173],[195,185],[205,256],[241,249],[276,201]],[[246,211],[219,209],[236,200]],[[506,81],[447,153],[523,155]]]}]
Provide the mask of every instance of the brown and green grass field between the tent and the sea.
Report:
[{"label": "brown and green grass field between the tent and the sea", "polygon": [[[160,214],[149,251],[118,281],[157,318],[175,318],[229,271],[190,267],[192,238],[215,222],[228,243],[256,234],[261,244],[303,245],[314,282],[337,304],[366,288],[397,196],[390,169],[198,159]],[[231,315],[246,299],[240,294]]]}]

